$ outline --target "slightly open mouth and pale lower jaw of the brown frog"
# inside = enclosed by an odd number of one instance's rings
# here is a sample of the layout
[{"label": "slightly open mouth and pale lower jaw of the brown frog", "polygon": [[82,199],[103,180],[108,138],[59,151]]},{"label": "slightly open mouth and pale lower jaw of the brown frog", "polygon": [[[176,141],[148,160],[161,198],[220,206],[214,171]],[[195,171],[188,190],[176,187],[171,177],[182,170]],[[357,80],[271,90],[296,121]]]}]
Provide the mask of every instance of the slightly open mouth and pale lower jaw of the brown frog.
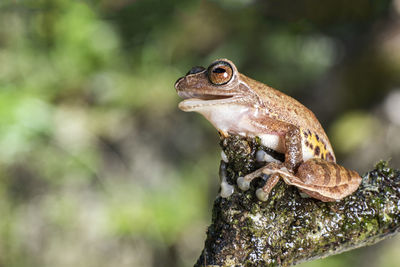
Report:
[{"label": "slightly open mouth and pale lower jaw of the brown frog", "polygon": [[237,101],[234,95],[213,95],[199,94],[195,92],[178,91],[178,95],[182,97],[182,102],[179,103],[179,108],[183,111],[195,111],[202,107],[223,105]]}]

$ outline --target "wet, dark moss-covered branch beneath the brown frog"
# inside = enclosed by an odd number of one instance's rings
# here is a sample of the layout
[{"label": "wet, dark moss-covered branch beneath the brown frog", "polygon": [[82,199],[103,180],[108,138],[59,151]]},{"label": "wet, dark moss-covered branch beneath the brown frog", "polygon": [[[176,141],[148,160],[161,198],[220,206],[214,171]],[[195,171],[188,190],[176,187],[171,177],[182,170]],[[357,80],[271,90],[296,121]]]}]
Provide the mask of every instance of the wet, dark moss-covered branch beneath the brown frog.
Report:
[{"label": "wet, dark moss-covered branch beneath the brown frog", "polygon": [[[254,139],[232,136],[221,141],[228,156],[228,181],[257,169]],[[380,162],[363,176],[359,189],[341,201],[302,198],[280,181],[268,201],[255,189],[214,202],[212,224],[195,266],[289,266],[374,244],[399,231],[400,171]]]}]

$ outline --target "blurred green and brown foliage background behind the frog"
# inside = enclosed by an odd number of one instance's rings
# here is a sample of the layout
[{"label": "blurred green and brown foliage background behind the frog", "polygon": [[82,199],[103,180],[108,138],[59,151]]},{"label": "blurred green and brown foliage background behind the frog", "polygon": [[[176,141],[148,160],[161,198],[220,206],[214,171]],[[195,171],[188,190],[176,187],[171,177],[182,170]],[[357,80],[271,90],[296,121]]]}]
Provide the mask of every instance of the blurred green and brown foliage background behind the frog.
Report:
[{"label": "blurred green and brown foliage background behind the frog", "polygon": [[[400,167],[400,0],[2,0],[0,266],[191,266],[218,134],[173,87],[226,57]],[[302,266],[398,266],[400,239]]]}]

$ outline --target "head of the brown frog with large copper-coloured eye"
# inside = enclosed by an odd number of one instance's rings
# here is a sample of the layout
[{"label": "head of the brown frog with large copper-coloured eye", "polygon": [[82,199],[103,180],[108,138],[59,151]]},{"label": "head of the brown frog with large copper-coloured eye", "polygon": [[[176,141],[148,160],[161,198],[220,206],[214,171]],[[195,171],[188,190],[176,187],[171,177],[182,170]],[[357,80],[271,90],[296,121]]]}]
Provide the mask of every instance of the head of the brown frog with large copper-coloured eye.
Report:
[{"label": "head of the brown frog with large copper-coloured eye", "polygon": [[255,103],[254,99],[249,99],[253,95],[252,90],[241,77],[243,75],[228,59],[218,59],[207,69],[193,67],[175,83],[178,95],[185,99],[179,108],[201,113],[211,106]]}]

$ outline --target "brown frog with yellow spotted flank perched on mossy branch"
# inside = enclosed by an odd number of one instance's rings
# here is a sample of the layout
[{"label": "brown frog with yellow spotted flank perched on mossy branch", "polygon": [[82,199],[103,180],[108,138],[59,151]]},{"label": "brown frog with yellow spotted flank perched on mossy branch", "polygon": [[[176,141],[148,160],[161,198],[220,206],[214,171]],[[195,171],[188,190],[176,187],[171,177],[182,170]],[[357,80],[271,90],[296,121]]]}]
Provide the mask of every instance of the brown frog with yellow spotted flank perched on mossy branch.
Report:
[{"label": "brown frog with yellow spotted flank perched on mossy branch", "polygon": [[[266,177],[265,184],[256,189],[259,200],[268,200],[280,179],[323,202],[339,201],[361,184],[356,171],[336,163],[328,136],[310,109],[240,73],[232,61],[223,58],[207,68],[192,67],[176,81],[175,89],[183,98],[178,107],[203,115],[222,137],[258,138],[262,146],[284,155],[281,161],[266,160],[261,168],[237,177],[243,191],[255,178]],[[226,155],[222,157],[222,163],[228,161]],[[221,166],[221,195],[229,197],[233,185],[227,183],[226,164]]]}]

